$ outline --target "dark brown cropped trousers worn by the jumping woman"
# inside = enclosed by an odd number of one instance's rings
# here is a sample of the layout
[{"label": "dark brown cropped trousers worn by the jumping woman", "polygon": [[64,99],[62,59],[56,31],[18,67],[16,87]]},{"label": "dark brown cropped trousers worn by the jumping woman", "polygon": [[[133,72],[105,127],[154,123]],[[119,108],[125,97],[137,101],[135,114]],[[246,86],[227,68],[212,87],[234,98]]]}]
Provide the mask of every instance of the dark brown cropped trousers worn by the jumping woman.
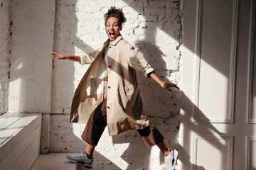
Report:
[{"label": "dark brown cropped trousers worn by the jumping woman", "polygon": [[[92,146],[96,146],[100,140],[100,137],[107,126],[107,98],[100,103],[94,111],[92,111],[90,118],[87,121],[85,130],[82,132],[82,140]],[[149,126],[142,130],[137,130],[139,135],[142,136],[142,140],[147,147],[151,147],[154,144],[163,142],[164,137],[159,130],[150,123]]]}]

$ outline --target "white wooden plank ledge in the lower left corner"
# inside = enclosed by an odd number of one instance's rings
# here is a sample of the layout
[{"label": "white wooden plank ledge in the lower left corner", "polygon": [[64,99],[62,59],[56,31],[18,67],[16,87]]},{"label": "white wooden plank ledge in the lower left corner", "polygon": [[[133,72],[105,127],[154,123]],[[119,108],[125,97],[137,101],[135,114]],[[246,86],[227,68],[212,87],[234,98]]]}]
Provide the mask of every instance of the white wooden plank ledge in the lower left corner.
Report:
[{"label": "white wooden plank ledge in the lower left corner", "polygon": [[39,154],[41,113],[0,116],[1,169],[30,169]]}]

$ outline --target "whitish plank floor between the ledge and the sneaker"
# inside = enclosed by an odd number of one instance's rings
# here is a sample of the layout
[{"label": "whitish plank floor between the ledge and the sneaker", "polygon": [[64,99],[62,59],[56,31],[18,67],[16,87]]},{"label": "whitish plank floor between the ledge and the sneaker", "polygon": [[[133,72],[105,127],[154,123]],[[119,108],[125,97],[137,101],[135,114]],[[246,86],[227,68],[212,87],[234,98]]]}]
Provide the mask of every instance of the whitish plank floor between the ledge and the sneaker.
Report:
[{"label": "whitish plank floor between the ledge and the sneaker", "polygon": [[76,164],[68,162],[68,154],[70,153],[40,154],[31,170],[75,170]]}]

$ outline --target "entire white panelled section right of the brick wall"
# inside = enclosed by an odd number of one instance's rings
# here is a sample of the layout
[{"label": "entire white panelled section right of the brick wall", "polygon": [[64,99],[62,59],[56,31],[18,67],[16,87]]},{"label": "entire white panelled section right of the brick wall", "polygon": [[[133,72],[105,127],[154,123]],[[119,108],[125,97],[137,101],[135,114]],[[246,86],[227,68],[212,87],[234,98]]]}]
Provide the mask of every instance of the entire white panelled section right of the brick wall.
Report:
[{"label": "entire white panelled section right of the brick wall", "polygon": [[255,4],[186,1],[182,170],[256,169],[256,142],[246,141],[256,137]]}]

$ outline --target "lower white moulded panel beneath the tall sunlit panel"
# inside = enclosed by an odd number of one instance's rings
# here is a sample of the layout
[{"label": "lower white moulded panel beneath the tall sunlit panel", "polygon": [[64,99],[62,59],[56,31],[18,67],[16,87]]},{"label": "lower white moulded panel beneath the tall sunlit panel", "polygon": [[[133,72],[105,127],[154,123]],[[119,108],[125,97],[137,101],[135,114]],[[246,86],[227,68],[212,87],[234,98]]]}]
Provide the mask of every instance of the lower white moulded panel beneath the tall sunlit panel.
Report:
[{"label": "lower white moulded panel beneath the tall sunlit panel", "polygon": [[193,169],[232,169],[233,135],[200,135],[193,143]]}]

